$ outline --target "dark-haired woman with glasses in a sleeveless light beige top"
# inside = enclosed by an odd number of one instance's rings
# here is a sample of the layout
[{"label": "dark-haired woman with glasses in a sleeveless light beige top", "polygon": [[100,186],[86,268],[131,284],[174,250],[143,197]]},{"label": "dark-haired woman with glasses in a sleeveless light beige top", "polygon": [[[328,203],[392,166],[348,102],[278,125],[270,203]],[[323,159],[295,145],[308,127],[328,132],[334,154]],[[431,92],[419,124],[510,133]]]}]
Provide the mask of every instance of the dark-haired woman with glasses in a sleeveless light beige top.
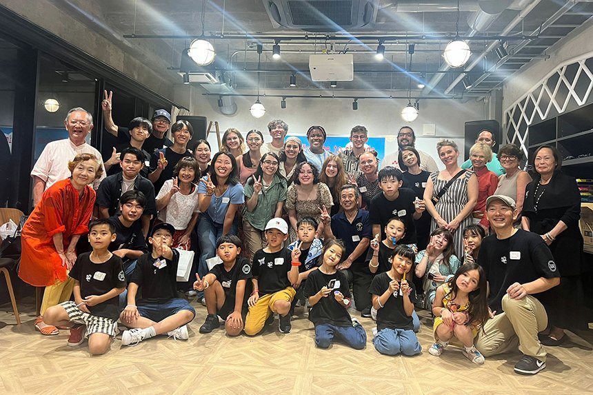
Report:
[{"label": "dark-haired woman with glasses in a sleeveless light beige top", "polygon": [[523,211],[525,187],[531,182],[529,173],[519,168],[524,158],[523,151],[514,144],[503,145],[499,149],[499,161],[501,161],[505,174],[499,176],[499,186],[494,192],[496,195],[504,195],[512,198],[516,203],[519,214]]}]

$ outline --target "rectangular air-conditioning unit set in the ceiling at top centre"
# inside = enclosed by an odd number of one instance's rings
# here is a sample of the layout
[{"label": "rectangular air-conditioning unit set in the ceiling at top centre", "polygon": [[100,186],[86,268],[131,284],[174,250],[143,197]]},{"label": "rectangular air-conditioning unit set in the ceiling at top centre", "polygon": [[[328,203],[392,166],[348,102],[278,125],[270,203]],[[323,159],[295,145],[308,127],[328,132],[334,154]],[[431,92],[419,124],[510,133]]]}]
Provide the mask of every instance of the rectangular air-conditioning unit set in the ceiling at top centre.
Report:
[{"label": "rectangular air-conditioning unit set in the ceiling at top centre", "polygon": [[262,0],[274,28],[337,32],[374,26],[379,0]]}]

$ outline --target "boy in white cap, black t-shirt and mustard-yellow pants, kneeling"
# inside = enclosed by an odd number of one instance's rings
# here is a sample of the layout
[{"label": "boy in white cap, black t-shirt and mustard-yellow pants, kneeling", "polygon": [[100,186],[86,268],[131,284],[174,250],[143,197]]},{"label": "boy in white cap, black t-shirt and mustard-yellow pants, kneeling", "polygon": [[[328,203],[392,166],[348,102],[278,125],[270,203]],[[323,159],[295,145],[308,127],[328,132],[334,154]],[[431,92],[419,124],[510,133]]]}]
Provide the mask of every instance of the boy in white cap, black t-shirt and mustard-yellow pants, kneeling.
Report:
[{"label": "boy in white cap, black t-shirt and mustard-yellow pants, kneeling", "polygon": [[249,312],[245,318],[245,334],[254,336],[261,332],[268,317],[279,314],[279,330],[289,333],[290,303],[297,292],[292,287],[299,279],[299,255],[301,250],[291,252],[282,247],[288,239],[288,224],[281,218],[273,218],[265,225],[265,240],[268,246],[253,256],[253,292],[248,300]]}]

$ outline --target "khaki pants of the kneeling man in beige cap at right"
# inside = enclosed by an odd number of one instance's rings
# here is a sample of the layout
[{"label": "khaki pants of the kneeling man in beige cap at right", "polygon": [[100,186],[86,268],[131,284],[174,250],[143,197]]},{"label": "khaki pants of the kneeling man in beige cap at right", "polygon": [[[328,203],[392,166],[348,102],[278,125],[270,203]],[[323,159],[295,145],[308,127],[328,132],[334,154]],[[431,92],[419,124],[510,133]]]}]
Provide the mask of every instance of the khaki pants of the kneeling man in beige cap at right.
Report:
[{"label": "khaki pants of the kneeling man in beige cap at right", "polygon": [[537,338],[538,332],[547,327],[547,314],[543,305],[533,296],[515,300],[503,296],[503,313],[488,320],[484,332],[478,332],[476,348],[491,356],[519,351],[545,361],[546,352]]}]

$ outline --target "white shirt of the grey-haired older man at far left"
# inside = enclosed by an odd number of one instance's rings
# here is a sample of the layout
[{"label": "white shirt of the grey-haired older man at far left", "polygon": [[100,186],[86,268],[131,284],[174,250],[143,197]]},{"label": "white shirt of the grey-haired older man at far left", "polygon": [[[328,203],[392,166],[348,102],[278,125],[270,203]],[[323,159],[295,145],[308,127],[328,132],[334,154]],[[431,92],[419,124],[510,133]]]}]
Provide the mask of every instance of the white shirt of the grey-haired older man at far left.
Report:
[{"label": "white shirt of the grey-haired older man at far left", "polygon": [[52,186],[56,181],[70,178],[70,170],[68,170],[68,162],[74,159],[78,154],[93,154],[101,161],[103,168],[103,175],[96,179],[92,186],[95,190],[99,188],[99,184],[105,179],[105,167],[103,166],[103,159],[101,153],[91,145],[83,143],[82,145],[74,145],[70,139],[63,139],[52,141],[48,143],[43,152],[37,159],[37,162],[31,170],[31,176],[38,176],[46,182],[46,190]]}]

